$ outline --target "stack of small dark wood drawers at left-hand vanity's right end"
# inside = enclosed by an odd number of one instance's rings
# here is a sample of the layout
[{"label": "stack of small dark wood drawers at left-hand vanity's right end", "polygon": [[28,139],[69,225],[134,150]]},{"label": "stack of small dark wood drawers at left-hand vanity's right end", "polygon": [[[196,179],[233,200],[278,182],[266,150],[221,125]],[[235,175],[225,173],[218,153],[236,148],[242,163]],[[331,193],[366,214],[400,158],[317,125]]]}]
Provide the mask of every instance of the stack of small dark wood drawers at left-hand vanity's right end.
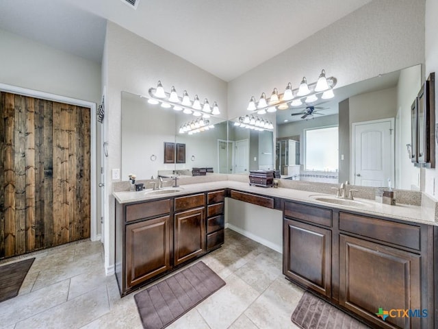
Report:
[{"label": "stack of small dark wood drawers at left-hand vanity's right end", "polygon": [[207,250],[224,243],[225,191],[207,193]]}]

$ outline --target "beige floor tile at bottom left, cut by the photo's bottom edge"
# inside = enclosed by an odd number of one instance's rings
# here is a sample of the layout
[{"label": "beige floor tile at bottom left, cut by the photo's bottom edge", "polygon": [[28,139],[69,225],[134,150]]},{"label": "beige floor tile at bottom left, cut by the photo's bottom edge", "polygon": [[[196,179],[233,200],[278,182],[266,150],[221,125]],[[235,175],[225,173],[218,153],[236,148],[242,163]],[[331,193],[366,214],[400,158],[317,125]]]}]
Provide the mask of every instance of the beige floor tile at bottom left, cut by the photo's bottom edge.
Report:
[{"label": "beige floor tile at bottom left, cut by the photo's bottom edge", "polygon": [[20,321],[15,329],[81,328],[109,311],[107,290],[102,287]]}]

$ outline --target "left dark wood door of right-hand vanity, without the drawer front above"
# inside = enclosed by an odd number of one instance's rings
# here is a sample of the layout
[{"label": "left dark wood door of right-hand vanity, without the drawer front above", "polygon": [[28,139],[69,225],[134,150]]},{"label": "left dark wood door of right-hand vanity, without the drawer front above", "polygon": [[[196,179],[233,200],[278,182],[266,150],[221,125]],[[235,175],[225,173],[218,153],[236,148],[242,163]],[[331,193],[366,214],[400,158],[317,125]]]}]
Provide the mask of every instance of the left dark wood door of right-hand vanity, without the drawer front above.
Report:
[{"label": "left dark wood door of right-hand vanity, without the drawer front above", "polygon": [[331,297],[331,230],[284,219],[283,274]]}]

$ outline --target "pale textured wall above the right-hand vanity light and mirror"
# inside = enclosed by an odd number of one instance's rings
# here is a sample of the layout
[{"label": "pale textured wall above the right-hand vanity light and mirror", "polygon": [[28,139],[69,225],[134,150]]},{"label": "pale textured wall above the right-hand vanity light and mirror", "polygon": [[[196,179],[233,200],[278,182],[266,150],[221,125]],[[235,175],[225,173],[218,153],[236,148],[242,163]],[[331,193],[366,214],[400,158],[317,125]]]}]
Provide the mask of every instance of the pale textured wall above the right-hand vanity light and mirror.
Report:
[{"label": "pale textured wall above the right-hand vanity light and mirror", "polygon": [[296,88],[303,76],[315,82],[321,69],[339,87],[423,62],[424,0],[372,1],[229,82],[229,118],[243,114],[251,96],[288,82]]}]

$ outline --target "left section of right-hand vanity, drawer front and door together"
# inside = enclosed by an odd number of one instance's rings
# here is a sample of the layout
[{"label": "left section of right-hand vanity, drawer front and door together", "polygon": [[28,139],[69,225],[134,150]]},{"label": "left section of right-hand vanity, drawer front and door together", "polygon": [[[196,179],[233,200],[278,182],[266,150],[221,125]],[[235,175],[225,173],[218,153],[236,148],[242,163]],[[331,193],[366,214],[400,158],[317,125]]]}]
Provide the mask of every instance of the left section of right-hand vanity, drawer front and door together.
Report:
[{"label": "left section of right-hand vanity, drawer front and door together", "polygon": [[330,226],[331,210],[285,202],[283,274],[326,297],[331,297]]}]

